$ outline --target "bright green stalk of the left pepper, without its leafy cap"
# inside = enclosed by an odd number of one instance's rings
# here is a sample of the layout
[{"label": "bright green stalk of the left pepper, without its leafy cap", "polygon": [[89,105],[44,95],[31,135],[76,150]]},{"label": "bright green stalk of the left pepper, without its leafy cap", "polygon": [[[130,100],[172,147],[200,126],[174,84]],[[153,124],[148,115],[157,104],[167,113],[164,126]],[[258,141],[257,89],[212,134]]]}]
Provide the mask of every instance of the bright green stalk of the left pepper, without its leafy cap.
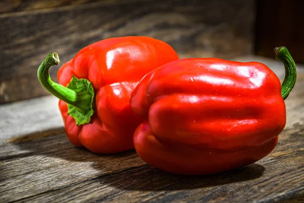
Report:
[{"label": "bright green stalk of the left pepper, without its leafy cap", "polygon": [[52,81],[49,75],[49,69],[52,65],[58,65],[59,62],[59,56],[55,52],[50,53],[46,57],[37,71],[37,76],[40,83],[57,98],[77,108],[80,112],[86,112],[88,110],[88,107],[86,104],[82,104],[81,101],[83,99],[79,97],[77,92]]}]

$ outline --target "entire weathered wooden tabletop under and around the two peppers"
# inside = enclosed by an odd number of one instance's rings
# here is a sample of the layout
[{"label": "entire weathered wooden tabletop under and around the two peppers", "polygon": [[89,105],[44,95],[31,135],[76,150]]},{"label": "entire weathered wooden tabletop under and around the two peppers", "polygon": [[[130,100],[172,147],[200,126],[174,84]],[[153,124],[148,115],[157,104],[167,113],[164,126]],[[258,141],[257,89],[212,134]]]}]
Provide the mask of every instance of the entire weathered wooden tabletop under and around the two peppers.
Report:
[{"label": "entire weathered wooden tabletop under and around the two peppers", "polygon": [[[283,78],[275,60],[268,64]],[[246,167],[180,176],[147,165],[134,150],[97,155],[66,138],[53,96],[0,106],[0,202],[304,202],[304,69],[285,100],[275,150]]]}]

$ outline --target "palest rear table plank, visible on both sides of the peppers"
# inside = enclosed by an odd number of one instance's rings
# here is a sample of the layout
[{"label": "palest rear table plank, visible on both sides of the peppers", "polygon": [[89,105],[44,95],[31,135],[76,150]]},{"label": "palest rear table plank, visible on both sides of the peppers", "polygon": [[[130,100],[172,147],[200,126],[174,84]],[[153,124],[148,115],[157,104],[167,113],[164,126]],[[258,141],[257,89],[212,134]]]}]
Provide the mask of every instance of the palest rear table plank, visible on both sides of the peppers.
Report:
[{"label": "palest rear table plank, visible on both sides of the peppers", "polygon": [[[237,57],[234,60],[259,61],[268,65],[280,79],[283,79],[285,75],[282,62],[275,59],[248,55]],[[297,69],[298,81],[300,81],[304,77],[304,65],[297,64]],[[301,94],[302,88],[296,85],[286,99],[287,126],[297,122],[300,114],[304,111],[302,99],[299,98]],[[54,129],[57,132],[60,130],[63,132],[58,99],[52,95],[0,105],[0,144],[10,142],[9,139],[15,137],[24,139],[32,133],[39,133],[39,135],[42,132],[53,133]]]}]

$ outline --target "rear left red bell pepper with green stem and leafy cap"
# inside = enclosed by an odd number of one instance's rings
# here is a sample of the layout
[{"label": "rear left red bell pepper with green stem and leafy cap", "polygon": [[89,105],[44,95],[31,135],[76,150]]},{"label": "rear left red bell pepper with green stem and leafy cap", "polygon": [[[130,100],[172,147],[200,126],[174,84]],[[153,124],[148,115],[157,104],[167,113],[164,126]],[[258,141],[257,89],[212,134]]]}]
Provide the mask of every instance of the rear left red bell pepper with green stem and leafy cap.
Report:
[{"label": "rear left red bell pepper with green stem and leafy cap", "polygon": [[131,91],[149,71],[178,59],[165,42],[148,37],[110,38],[83,48],[63,64],[58,81],[49,76],[59,63],[50,53],[40,65],[41,84],[60,99],[65,132],[75,146],[96,153],[134,148],[133,133],[142,122],[130,109]]}]

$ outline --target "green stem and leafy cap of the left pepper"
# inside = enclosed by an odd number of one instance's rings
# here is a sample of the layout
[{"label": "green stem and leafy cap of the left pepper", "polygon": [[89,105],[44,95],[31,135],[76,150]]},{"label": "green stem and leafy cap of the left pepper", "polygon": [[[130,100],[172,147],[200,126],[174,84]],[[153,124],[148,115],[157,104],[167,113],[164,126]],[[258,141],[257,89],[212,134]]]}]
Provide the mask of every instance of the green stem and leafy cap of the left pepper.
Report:
[{"label": "green stem and leafy cap of the left pepper", "polygon": [[94,113],[92,107],[93,86],[88,80],[77,79],[74,76],[67,87],[53,82],[49,75],[49,69],[52,65],[58,65],[59,62],[58,54],[55,52],[50,53],[39,66],[37,77],[42,86],[67,103],[68,114],[75,119],[77,125],[89,123]]}]

